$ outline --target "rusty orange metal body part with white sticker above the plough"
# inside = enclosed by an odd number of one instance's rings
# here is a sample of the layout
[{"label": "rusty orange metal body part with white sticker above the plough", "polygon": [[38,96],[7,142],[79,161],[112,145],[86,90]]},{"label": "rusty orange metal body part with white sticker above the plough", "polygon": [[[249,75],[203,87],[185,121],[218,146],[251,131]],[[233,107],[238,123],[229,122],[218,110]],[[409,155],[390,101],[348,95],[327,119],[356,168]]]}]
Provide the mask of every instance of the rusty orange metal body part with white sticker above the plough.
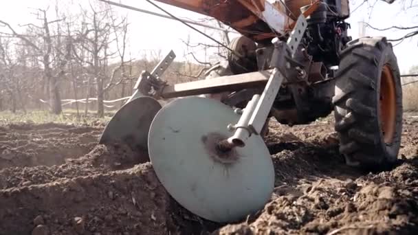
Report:
[{"label": "rusty orange metal body part with white sticker above the plough", "polygon": [[285,36],[293,22],[282,3],[265,0],[155,0],[179,8],[212,16],[234,30],[259,42],[276,36]]}]

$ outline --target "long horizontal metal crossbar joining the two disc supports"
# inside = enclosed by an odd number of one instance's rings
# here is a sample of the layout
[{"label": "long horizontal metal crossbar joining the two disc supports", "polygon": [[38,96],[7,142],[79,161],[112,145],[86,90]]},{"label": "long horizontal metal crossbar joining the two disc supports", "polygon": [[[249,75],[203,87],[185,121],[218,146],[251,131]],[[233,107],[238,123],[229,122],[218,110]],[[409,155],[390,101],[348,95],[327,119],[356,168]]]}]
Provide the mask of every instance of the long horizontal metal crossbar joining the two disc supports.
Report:
[{"label": "long horizontal metal crossbar joining the two disc supports", "polygon": [[221,76],[208,80],[169,85],[162,91],[162,98],[176,98],[182,96],[197,96],[207,93],[221,93],[223,91],[239,91],[248,88],[263,87],[267,84],[273,69],[256,71],[233,76]]}]

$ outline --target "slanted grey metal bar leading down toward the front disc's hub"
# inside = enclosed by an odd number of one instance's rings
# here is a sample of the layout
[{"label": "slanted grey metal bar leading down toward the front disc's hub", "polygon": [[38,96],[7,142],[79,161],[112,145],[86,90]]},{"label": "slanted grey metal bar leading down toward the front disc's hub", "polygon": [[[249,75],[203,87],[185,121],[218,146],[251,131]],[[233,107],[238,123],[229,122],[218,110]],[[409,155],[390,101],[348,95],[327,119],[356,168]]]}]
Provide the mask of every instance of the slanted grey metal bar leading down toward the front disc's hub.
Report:
[{"label": "slanted grey metal bar leading down toward the front disc's hub", "polygon": [[250,122],[248,122],[248,126],[252,128],[256,134],[261,133],[261,129],[263,128],[265,120],[267,120],[267,116],[272,109],[274,100],[276,99],[278,90],[280,89],[284,78],[285,76],[283,76],[278,69],[274,69],[267,85],[265,85],[265,89],[261,94],[261,98],[257,103],[256,109],[254,109]]}]

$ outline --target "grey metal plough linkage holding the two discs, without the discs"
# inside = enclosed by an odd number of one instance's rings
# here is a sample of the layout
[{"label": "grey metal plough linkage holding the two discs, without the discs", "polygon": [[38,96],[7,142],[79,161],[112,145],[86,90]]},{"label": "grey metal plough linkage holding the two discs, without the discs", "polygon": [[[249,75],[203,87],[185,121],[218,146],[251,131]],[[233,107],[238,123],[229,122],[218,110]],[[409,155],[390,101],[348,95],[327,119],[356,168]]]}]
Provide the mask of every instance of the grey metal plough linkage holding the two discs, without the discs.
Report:
[{"label": "grey metal plough linkage holding the two discs, without the discs", "polygon": [[171,51],[166,58],[161,60],[151,74],[147,71],[142,72],[135,85],[135,93],[130,100],[140,95],[152,96],[157,99],[177,98],[205,93],[239,91],[264,85],[263,93],[254,94],[245,109],[241,111],[242,115],[239,122],[228,125],[228,129],[234,131],[234,134],[228,137],[228,139],[219,142],[219,149],[223,151],[228,151],[235,147],[243,147],[248,137],[253,134],[260,135],[283,80],[293,82],[295,78],[298,79],[295,71],[296,73],[297,71],[303,71],[303,65],[294,60],[293,56],[306,28],[307,21],[305,16],[301,14],[287,43],[283,41],[274,43],[274,52],[270,63],[270,67],[273,69],[265,71],[167,85],[159,77],[162,76],[162,73],[175,58],[174,52]]}]

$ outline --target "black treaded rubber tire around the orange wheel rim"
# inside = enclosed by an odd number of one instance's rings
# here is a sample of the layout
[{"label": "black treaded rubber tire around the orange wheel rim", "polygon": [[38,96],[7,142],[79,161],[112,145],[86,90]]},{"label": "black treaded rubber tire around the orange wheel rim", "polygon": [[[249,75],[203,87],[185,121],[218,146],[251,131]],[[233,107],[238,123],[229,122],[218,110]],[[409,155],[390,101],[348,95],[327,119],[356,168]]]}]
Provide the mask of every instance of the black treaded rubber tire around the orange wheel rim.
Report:
[{"label": "black treaded rubber tire around the orange wheel rim", "polygon": [[[340,153],[350,166],[382,170],[397,160],[402,133],[402,89],[397,58],[386,38],[359,38],[341,54],[333,97]],[[395,83],[395,134],[384,142],[380,117],[382,70],[391,67]]]}]

